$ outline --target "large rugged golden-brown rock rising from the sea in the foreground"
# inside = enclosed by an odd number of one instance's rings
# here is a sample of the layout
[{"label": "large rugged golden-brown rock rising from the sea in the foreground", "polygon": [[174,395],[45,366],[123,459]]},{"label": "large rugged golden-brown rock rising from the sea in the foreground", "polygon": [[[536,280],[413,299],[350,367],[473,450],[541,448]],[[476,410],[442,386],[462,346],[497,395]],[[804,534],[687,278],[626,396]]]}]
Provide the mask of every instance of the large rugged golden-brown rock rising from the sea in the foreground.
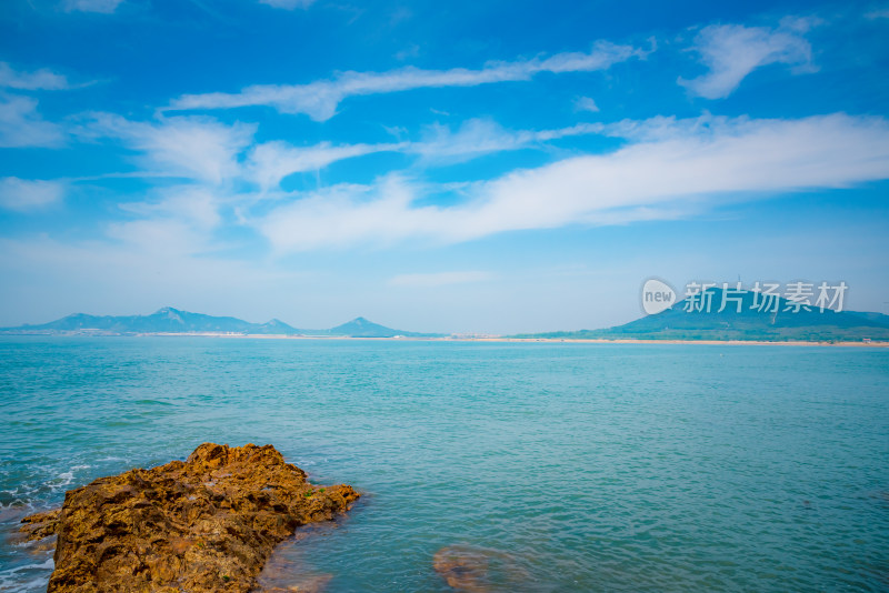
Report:
[{"label": "large rugged golden-brown rock rising from the sea in the foreground", "polygon": [[57,534],[48,593],[247,593],[274,544],[359,494],[312,486],[271,445],[204,443],[188,461],[100,478],[60,511],[22,520]]}]

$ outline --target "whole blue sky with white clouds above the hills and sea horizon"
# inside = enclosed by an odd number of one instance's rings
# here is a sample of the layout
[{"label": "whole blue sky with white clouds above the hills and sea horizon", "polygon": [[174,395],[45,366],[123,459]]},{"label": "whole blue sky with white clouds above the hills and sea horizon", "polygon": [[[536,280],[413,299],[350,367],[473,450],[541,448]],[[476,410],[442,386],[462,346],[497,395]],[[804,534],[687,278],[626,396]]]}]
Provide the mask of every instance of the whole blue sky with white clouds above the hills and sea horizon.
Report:
[{"label": "whole blue sky with white clouds above the hills and sea horizon", "polygon": [[889,313],[889,4],[7,0],[0,325],[600,328],[650,277]]}]

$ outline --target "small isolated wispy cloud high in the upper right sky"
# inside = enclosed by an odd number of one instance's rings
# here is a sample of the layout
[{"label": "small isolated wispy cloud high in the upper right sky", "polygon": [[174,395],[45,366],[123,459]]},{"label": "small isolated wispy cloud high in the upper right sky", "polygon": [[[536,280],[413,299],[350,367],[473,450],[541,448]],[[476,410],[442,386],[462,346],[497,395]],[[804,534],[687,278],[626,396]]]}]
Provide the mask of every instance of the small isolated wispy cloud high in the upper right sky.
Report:
[{"label": "small isolated wispy cloud high in the upper right sky", "polygon": [[757,68],[782,63],[797,72],[813,72],[812,49],[802,37],[813,23],[807,19],[785,19],[777,29],[715,24],[705,27],[695,39],[693,49],[709,72],[678,82],[706,99],[723,99]]}]

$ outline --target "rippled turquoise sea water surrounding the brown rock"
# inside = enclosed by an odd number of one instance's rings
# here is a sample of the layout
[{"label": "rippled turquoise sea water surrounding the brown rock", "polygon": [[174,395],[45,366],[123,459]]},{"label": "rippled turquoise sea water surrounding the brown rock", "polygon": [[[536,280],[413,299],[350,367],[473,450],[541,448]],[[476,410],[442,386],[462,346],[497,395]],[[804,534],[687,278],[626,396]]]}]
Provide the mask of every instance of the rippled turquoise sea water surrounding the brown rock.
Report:
[{"label": "rippled turquoise sea water surrounding the brown rock", "polygon": [[0,339],[0,591],[64,490],[272,443],[363,493],[270,584],[449,591],[889,591],[889,350],[210,338]]}]

